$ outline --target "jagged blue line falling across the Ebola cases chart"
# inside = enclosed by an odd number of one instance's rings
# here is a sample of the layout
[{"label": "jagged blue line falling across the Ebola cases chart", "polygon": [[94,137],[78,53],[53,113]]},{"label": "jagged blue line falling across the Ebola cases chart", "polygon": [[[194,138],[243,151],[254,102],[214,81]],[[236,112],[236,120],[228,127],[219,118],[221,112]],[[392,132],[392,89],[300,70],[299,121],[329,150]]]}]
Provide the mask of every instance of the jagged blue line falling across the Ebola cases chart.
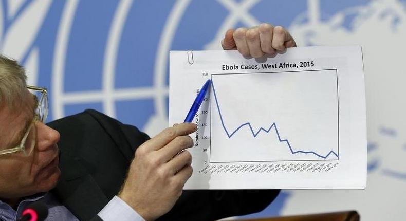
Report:
[{"label": "jagged blue line falling across the Ebola cases chart", "polygon": [[336,156],[338,157],[338,154],[336,154],[334,151],[330,151],[326,156],[322,156],[322,155],[320,155],[320,154],[318,154],[318,153],[316,153],[316,152],[313,152],[313,151],[293,151],[292,147],[290,146],[289,141],[288,141],[287,139],[284,139],[284,140],[281,139],[281,136],[279,135],[279,131],[278,131],[278,128],[276,127],[276,124],[275,124],[275,123],[272,123],[272,125],[268,128],[268,130],[266,130],[265,128],[261,127],[260,130],[258,130],[258,131],[255,133],[254,130],[253,130],[253,128],[252,128],[252,126],[251,126],[251,123],[247,122],[247,123],[244,123],[244,124],[242,124],[241,126],[239,126],[235,131],[233,131],[233,132],[230,134],[230,133],[228,132],[226,126],[224,125],[224,120],[223,120],[222,112],[220,111],[220,106],[218,105],[218,101],[217,101],[216,90],[214,89],[214,82],[213,82],[213,79],[212,79],[212,81],[211,81],[211,85],[212,85],[212,87],[213,87],[214,99],[215,99],[215,101],[216,101],[218,114],[220,115],[220,120],[222,121],[222,125],[223,125],[223,128],[224,128],[224,131],[226,132],[228,138],[231,138],[239,129],[241,129],[242,127],[244,127],[244,126],[246,126],[246,125],[248,125],[248,127],[250,128],[250,131],[251,131],[251,133],[252,133],[252,136],[254,136],[254,137],[256,137],[261,131],[265,131],[266,133],[269,133],[269,131],[271,131],[272,128],[275,128],[275,132],[276,132],[276,135],[278,135],[279,142],[286,142],[286,143],[288,144],[289,149],[290,149],[290,152],[291,152],[292,154],[297,154],[297,153],[314,154],[314,155],[316,155],[316,156],[318,156],[318,157],[321,157],[321,158],[324,158],[324,159],[326,159],[330,154],[334,154],[334,155],[336,155]]}]

